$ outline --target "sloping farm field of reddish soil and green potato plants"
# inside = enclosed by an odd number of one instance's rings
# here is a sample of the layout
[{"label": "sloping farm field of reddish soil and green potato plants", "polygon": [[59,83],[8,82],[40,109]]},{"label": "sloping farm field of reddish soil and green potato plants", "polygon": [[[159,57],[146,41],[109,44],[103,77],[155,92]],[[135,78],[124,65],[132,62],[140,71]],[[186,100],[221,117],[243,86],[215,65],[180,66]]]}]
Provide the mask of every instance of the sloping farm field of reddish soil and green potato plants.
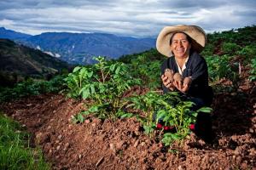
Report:
[{"label": "sloping farm field of reddish soil and green potato plants", "polygon": [[[119,60],[99,57],[96,65],[49,82],[1,88],[0,111],[32,134],[32,147],[43,150],[52,169],[253,169],[255,33],[252,26],[208,36],[201,54],[214,99],[212,109],[201,111],[212,117],[210,140],[189,130],[197,114],[189,115],[190,103],[161,94],[165,58],[155,49]],[[176,127],[168,133],[155,127],[154,113],[183,119],[166,121]]]}]

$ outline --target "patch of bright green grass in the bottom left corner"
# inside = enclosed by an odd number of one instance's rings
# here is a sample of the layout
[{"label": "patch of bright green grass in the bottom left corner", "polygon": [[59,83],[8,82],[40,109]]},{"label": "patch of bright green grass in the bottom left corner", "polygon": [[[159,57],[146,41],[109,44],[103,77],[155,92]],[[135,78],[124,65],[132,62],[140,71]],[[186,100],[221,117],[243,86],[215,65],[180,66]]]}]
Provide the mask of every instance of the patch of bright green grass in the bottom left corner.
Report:
[{"label": "patch of bright green grass in the bottom left corner", "polygon": [[29,137],[0,111],[0,169],[50,169],[42,152],[30,148]]}]

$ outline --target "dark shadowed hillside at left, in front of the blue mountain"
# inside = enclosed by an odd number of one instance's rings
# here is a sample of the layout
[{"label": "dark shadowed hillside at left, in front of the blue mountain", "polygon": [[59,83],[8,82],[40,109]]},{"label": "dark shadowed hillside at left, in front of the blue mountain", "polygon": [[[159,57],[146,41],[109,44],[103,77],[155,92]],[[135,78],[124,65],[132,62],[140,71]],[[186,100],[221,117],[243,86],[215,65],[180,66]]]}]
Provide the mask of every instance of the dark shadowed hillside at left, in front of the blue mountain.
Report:
[{"label": "dark shadowed hillside at left, in front of the blue mountain", "polygon": [[40,50],[27,48],[9,39],[0,39],[0,73],[20,77],[49,77],[70,66]]}]

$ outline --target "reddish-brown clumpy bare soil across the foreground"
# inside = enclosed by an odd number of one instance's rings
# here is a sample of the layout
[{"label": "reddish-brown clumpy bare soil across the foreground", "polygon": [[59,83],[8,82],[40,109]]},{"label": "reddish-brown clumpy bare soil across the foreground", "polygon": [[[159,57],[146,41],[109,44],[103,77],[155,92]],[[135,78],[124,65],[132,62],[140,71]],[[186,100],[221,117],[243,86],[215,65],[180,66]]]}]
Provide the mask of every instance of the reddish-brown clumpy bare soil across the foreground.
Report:
[{"label": "reddish-brown clumpy bare soil across the foreground", "polygon": [[245,82],[236,93],[215,94],[211,143],[191,133],[182,147],[171,149],[154,138],[160,132],[144,134],[136,118],[89,116],[73,124],[71,117],[84,111],[86,101],[61,94],[19,99],[0,110],[32,133],[32,146],[42,148],[52,169],[256,169],[255,87]]}]

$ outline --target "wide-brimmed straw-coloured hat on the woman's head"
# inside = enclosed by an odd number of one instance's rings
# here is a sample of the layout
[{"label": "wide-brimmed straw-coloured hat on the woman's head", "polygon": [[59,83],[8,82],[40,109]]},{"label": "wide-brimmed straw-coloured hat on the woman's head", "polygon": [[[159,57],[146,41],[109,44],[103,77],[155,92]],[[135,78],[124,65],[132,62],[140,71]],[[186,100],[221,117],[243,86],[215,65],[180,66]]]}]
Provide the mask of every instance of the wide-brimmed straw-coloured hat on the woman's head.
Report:
[{"label": "wide-brimmed straw-coloured hat on the woman's head", "polygon": [[172,56],[170,39],[174,32],[184,32],[192,38],[191,48],[200,53],[206,45],[207,35],[199,26],[166,26],[161,31],[156,40],[156,48],[160,54],[167,57]]}]

